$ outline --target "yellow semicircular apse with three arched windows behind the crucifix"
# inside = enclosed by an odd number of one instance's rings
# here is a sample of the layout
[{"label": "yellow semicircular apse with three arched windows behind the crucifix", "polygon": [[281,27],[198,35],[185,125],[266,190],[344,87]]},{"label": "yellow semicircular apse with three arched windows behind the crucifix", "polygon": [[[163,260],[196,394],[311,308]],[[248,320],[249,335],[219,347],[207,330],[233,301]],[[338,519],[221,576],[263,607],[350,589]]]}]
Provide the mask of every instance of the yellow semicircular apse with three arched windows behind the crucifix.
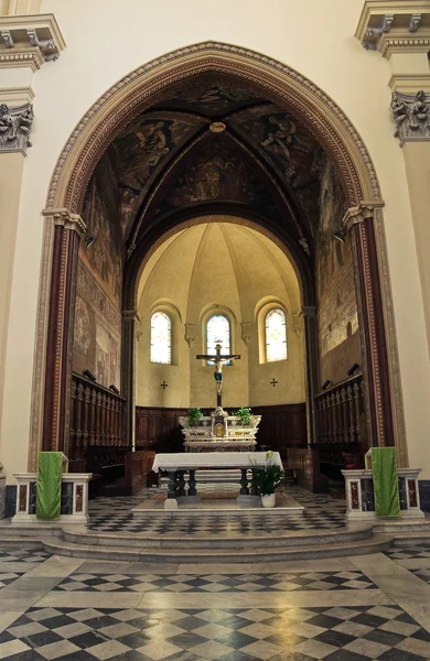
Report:
[{"label": "yellow semicircular apse with three arched windows behind the crucifix", "polygon": [[240,355],[224,368],[225,407],[304,402],[301,307],[293,264],[256,226],[228,216],[180,226],[139,283],[137,405],[214,407],[213,366],[196,359],[214,338]]}]

